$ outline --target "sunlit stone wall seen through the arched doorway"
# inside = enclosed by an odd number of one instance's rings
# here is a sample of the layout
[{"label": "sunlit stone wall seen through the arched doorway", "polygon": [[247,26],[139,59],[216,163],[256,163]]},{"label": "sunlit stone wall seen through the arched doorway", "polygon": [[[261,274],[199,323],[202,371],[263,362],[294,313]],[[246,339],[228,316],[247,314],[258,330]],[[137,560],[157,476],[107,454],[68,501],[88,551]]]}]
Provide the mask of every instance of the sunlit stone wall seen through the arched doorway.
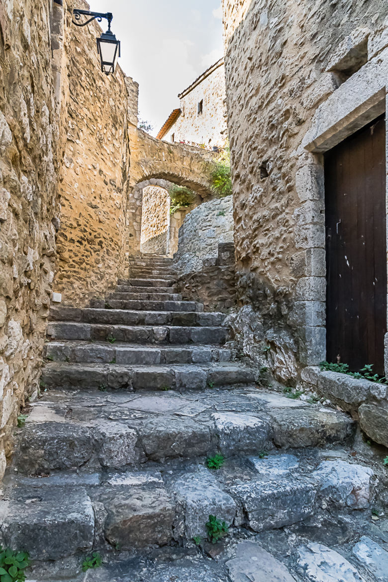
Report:
[{"label": "sunlit stone wall seen through the arched doorway", "polygon": [[170,195],[159,186],[143,189],[141,215],[141,253],[168,253],[170,226]]}]

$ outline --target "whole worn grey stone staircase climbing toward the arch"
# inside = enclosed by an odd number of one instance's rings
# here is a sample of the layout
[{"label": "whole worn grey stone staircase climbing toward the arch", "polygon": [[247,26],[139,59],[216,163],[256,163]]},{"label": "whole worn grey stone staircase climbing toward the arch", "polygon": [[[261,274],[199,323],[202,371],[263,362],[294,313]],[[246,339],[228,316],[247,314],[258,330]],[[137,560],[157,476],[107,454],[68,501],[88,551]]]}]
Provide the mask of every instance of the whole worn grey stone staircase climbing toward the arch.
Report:
[{"label": "whole worn grey stone staircase climbing toward the arch", "polygon": [[[386,580],[363,558],[388,556],[388,521],[371,521],[384,474],[353,420],[258,389],[223,347],[225,315],[181,301],[175,277],[142,257],[106,300],[52,308],[0,542],[30,552],[31,581]],[[218,545],[210,514],[230,527]],[[104,565],[82,573],[92,551]]]}]

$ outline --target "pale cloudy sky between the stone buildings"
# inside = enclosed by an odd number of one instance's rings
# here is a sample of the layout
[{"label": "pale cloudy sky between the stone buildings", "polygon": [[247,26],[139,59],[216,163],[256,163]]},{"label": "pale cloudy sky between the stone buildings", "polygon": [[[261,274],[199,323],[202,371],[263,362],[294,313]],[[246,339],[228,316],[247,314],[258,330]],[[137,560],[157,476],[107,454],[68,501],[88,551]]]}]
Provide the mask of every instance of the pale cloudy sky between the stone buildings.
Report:
[{"label": "pale cloudy sky between the stone buildings", "polygon": [[[220,0],[88,0],[94,12],[112,12],[121,41],[119,64],[139,87],[142,119],[158,133],[178,93],[223,54]],[[106,29],[106,21],[101,22]]]}]

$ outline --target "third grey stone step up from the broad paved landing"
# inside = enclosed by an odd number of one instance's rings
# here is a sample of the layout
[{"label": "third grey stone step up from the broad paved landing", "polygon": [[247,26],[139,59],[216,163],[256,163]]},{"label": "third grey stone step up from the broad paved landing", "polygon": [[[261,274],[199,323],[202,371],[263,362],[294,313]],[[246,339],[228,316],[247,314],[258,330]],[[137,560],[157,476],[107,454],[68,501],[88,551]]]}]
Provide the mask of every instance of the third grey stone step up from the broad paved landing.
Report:
[{"label": "third grey stone step up from the broad paved landing", "polygon": [[[201,314],[197,314],[201,315]],[[115,343],[154,344],[223,344],[227,329],[223,327],[186,327],[179,325],[105,325],[51,321],[47,327],[51,339],[82,339]]]}]

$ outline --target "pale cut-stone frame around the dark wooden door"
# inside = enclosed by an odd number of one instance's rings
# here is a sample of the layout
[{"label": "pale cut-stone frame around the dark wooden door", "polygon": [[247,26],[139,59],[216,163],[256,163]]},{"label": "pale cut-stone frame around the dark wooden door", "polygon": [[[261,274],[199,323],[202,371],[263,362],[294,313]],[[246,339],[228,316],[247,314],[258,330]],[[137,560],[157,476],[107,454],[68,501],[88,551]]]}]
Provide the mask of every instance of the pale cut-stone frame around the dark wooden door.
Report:
[{"label": "pale cut-stone frame around the dark wooden door", "polygon": [[[333,74],[333,73],[328,73]],[[387,111],[388,48],[341,84],[315,112],[296,152],[296,190],[300,207],[295,242],[304,252],[305,270],[296,287],[296,311],[304,330],[304,365],[326,360],[326,236],[323,154]],[[386,140],[387,140],[386,120]],[[386,169],[388,174],[388,140]],[[386,201],[388,208],[388,179]],[[388,214],[388,212],[387,212]],[[388,219],[387,219],[388,225]],[[388,232],[387,232],[388,250]],[[388,319],[388,314],[387,314]],[[388,334],[385,338],[388,374]]]}]

